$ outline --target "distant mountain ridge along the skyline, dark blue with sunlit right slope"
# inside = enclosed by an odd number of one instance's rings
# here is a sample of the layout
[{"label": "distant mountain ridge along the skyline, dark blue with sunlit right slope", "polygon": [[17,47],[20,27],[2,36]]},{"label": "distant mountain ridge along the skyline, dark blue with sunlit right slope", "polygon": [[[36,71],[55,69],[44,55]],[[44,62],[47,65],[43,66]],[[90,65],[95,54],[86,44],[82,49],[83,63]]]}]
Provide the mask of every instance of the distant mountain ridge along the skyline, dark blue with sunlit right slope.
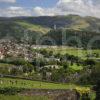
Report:
[{"label": "distant mountain ridge along the skyline, dark blue with sunlit right slope", "polygon": [[41,25],[42,27],[66,28],[73,30],[85,30],[100,32],[100,19],[87,16],[81,17],[79,15],[66,16],[40,16],[40,17],[12,17],[0,18],[0,21],[24,21],[29,24]]}]

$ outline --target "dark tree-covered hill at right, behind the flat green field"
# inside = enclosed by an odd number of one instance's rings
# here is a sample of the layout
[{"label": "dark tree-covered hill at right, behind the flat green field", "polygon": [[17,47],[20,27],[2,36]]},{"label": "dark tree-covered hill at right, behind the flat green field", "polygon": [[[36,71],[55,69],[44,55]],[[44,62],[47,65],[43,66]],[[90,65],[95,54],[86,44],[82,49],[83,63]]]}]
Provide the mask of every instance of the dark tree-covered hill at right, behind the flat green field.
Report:
[{"label": "dark tree-covered hill at right, behind the flat green field", "polygon": [[[44,44],[48,45],[67,45],[78,48],[100,48],[100,33],[81,30],[58,29],[51,30],[47,37],[53,40],[45,40]],[[93,43],[91,43],[93,42]],[[91,47],[90,47],[91,46]]]}]

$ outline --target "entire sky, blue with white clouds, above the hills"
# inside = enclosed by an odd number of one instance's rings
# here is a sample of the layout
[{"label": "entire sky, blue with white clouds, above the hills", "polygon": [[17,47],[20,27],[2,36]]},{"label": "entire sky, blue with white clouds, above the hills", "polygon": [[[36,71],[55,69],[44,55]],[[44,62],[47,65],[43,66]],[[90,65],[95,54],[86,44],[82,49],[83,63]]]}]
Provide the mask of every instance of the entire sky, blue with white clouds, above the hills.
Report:
[{"label": "entire sky, blue with white clouds, above the hills", "polygon": [[0,16],[76,14],[100,18],[100,0],[0,0]]}]

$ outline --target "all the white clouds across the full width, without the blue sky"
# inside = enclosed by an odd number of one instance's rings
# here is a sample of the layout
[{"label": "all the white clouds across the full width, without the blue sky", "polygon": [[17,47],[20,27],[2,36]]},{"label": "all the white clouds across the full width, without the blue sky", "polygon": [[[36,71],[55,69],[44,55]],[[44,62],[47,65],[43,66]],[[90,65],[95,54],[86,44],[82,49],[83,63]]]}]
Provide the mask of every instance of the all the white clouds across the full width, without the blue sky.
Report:
[{"label": "all the white clouds across the full width, without the blue sky", "polygon": [[[5,2],[16,2],[16,0],[0,0]],[[8,7],[0,9],[0,16],[54,16],[78,14],[81,16],[94,16],[100,18],[99,0],[58,0],[54,7]]]}]

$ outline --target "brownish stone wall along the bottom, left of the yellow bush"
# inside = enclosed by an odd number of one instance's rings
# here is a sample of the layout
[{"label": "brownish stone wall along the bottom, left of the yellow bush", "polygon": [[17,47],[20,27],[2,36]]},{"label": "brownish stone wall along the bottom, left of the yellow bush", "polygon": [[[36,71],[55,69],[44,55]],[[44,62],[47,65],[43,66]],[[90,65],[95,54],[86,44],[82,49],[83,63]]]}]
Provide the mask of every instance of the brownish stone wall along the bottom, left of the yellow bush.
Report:
[{"label": "brownish stone wall along the bottom, left of the yellow bush", "polygon": [[75,90],[48,90],[48,89],[32,89],[23,91],[21,95],[26,96],[49,96],[53,100],[79,100],[79,94]]}]

